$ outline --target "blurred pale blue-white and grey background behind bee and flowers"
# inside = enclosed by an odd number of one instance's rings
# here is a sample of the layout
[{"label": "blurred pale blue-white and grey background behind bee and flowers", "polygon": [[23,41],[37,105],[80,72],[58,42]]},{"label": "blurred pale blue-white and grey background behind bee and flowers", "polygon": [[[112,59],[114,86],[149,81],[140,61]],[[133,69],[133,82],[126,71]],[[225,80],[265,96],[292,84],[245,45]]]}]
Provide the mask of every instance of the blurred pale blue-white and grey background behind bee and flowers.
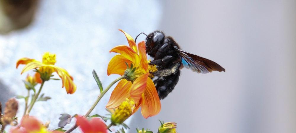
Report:
[{"label": "blurred pale blue-white and grey background behind bee and flowers", "polygon": [[[0,4],[2,103],[26,93],[22,79],[27,73],[20,75],[22,67],[15,69],[21,57],[41,60],[46,51],[56,53],[56,65],[74,77],[78,88],[73,95],[66,95],[60,81],[50,81],[42,93],[52,99],[36,103],[32,110],[42,121],[51,120],[50,129],[57,127],[59,114],[84,114],[94,103],[99,90],[93,69],[103,86],[118,77],[107,76],[106,70],[115,55],[108,51],[127,44],[118,31],[123,29],[133,37],[163,30],[183,50],[226,69],[210,74],[182,69],[178,85],[161,101],[161,112],[144,119],[138,111],[127,121],[130,133],[142,127],[157,132],[158,120],[176,122],[179,133],[296,132],[296,1],[28,0]],[[92,114],[106,114],[107,100],[106,96]],[[20,117],[24,102],[19,101]]]}]

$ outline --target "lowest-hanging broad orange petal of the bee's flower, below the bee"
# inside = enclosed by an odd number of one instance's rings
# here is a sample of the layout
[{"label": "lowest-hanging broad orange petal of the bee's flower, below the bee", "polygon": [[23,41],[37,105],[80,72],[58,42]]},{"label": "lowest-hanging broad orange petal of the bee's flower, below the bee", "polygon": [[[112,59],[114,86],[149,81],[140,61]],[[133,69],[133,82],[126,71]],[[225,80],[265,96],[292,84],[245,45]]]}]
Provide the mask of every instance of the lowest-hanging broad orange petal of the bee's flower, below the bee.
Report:
[{"label": "lowest-hanging broad orange petal of the bee's flower, below the bee", "polygon": [[153,81],[148,78],[147,86],[142,95],[141,113],[144,118],[155,116],[160,112],[160,100]]}]

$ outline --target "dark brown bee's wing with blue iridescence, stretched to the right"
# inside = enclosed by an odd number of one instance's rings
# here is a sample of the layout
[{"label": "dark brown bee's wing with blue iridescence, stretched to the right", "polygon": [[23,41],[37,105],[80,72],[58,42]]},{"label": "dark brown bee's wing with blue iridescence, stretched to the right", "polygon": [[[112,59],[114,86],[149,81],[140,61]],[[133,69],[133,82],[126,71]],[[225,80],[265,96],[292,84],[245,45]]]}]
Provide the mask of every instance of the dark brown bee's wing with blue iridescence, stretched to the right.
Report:
[{"label": "dark brown bee's wing with blue iridescence, stretched to the right", "polygon": [[214,61],[202,58],[200,56],[197,56],[192,53],[188,53],[186,51],[182,51],[178,48],[177,48],[177,51],[181,56],[181,62],[183,66],[186,67],[187,69],[192,70],[193,72],[202,73],[202,74],[213,72],[213,71],[225,72],[225,69]]}]

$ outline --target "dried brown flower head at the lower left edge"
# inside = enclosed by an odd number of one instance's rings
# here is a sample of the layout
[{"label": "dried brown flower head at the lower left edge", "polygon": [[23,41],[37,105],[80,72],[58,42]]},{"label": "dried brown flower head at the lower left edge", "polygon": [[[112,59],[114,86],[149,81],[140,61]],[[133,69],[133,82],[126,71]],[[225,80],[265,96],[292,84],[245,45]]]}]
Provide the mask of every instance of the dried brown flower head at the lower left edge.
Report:
[{"label": "dried brown flower head at the lower left edge", "polygon": [[4,109],[4,117],[1,118],[1,122],[3,125],[10,124],[13,121],[13,117],[17,114],[18,109],[18,103],[15,98],[10,98],[5,103],[5,109]]}]

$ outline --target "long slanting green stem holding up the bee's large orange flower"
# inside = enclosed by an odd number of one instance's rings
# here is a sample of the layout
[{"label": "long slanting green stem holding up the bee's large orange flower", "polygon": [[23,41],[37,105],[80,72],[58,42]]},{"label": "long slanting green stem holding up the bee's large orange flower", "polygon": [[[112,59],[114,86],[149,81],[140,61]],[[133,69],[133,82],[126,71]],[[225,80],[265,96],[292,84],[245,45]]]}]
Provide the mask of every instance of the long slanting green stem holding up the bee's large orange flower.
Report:
[{"label": "long slanting green stem holding up the bee's large orange flower", "polygon": [[[124,76],[119,77],[118,79],[114,80],[102,93],[101,95],[99,95],[99,97],[96,99],[96,102],[93,104],[93,106],[91,106],[91,108],[89,109],[89,111],[87,111],[87,113],[84,115],[84,117],[89,116],[89,114],[91,113],[91,111],[94,110],[94,108],[96,107],[96,105],[99,103],[99,101],[102,99],[102,97],[107,93],[107,91],[119,80],[124,79]],[[111,125],[111,124],[110,124]],[[112,125],[111,125],[112,126]],[[67,130],[65,133],[70,133],[73,130],[75,130],[78,127],[78,125],[74,125],[72,126],[69,130]]]}]

